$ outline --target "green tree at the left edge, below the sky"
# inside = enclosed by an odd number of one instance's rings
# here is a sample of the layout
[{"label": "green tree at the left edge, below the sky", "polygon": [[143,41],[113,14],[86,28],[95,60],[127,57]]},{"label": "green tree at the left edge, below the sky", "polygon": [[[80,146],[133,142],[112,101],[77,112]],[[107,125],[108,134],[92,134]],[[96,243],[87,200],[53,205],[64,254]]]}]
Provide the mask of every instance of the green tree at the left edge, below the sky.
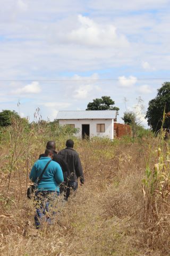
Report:
[{"label": "green tree at the left edge, below the sky", "polygon": [[20,118],[19,114],[14,110],[2,110],[2,112],[0,112],[0,126],[11,125],[13,117]]}]

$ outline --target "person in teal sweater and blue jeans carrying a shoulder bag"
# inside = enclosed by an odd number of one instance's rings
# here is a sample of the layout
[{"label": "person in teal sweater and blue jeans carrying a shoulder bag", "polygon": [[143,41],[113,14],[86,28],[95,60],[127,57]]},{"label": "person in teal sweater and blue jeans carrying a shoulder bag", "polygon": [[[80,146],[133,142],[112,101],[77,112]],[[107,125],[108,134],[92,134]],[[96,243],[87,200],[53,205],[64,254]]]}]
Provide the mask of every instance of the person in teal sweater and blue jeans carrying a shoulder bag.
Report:
[{"label": "person in teal sweater and blue jeans carrying a shoulder bag", "polygon": [[[60,184],[63,182],[61,166],[52,161],[54,153],[45,150],[44,157],[33,164],[29,178],[36,186],[35,193],[35,225],[39,229],[41,222],[52,223],[52,216],[56,214],[56,204],[60,196]],[[43,175],[42,175],[43,174]]]}]

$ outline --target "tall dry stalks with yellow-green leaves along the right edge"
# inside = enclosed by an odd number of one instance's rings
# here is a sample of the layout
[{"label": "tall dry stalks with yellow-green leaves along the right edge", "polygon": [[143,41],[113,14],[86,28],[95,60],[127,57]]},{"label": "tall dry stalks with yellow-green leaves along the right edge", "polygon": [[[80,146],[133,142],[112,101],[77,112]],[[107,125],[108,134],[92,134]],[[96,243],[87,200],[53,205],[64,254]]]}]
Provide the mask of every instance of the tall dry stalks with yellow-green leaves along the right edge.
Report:
[{"label": "tall dry stalks with yellow-green leaves along the right edge", "polygon": [[[165,111],[163,124],[164,120]],[[165,139],[165,134],[162,125],[157,149],[150,148],[146,162],[146,177],[142,180],[145,201],[143,238],[153,249],[163,249],[164,253],[170,253],[170,141],[169,138]]]}]

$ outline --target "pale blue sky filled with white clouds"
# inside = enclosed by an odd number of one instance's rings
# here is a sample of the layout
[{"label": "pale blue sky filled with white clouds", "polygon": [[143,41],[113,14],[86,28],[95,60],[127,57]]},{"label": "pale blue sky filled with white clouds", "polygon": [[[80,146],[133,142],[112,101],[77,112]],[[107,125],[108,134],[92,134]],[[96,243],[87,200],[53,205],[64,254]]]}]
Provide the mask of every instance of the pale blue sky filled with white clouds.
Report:
[{"label": "pale blue sky filled with white clouds", "polygon": [[[170,81],[169,0],[0,0],[0,110],[85,110],[110,96],[124,111]],[[156,79],[158,78],[158,79]],[[136,111],[136,110],[135,110]]]}]

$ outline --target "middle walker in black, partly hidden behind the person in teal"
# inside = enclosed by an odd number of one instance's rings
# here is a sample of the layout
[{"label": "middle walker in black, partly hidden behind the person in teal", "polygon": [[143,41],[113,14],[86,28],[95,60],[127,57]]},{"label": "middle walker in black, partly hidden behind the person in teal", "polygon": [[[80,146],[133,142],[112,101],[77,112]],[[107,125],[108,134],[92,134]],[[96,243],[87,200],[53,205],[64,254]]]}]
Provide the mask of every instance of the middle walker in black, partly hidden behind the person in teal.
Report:
[{"label": "middle walker in black, partly hidden behind the person in teal", "polygon": [[[60,185],[60,193],[64,191],[64,187],[67,186],[67,183],[70,178],[70,169],[67,163],[64,160],[64,157],[62,155],[58,155],[57,152],[55,151],[55,141],[48,141],[46,145],[46,149],[53,150],[54,156],[53,156],[53,161],[57,162],[60,164],[61,169],[63,171],[63,177],[64,177],[64,182]],[[40,157],[44,157],[44,154],[39,155]]]}]

